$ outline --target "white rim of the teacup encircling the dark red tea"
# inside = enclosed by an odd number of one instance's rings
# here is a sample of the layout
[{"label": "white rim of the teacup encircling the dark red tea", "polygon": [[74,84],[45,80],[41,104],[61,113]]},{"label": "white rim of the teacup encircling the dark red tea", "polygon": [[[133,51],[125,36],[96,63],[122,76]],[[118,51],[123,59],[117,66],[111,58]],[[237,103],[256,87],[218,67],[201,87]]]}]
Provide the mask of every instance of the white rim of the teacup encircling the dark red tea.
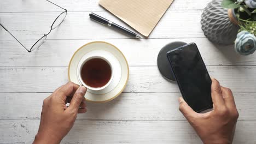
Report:
[{"label": "white rim of the teacup encircling the dark red tea", "polygon": [[[86,62],[90,61],[91,59],[94,59],[94,58],[99,58],[99,59],[102,59],[103,61],[107,62],[110,66],[110,69],[111,69],[110,79],[107,82],[107,84],[102,86],[102,87],[91,87],[91,86],[87,85],[86,82],[84,82],[83,79],[82,79],[82,68],[83,68],[84,64]],[[114,74],[114,69],[113,69],[112,64],[110,63],[108,57],[103,56],[103,55],[96,55],[95,54],[95,55],[84,56],[82,59],[80,59],[80,61],[78,63],[78,67],[77,67],[78,80],[83,86],[85,86],[86,88],[88,88],[92,91],[101,91],[101,90],[105,89],[106,87],[108,87],[110,85],[110,83],[112,82],[112,80],[113,80],[113,74]]]}]

